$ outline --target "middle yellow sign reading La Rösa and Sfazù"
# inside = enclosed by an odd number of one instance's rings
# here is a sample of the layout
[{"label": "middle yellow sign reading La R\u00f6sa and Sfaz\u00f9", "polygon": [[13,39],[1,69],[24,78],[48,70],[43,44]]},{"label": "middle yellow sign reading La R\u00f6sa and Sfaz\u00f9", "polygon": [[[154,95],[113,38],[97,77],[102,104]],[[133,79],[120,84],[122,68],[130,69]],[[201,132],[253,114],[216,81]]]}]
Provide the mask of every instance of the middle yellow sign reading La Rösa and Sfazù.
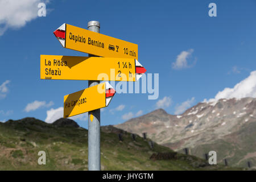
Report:
[{"label": "middle yellow sign reading La R\u00f6sa and Sfaz\u00f9", "polygon": [[134,58],[40,56],[40,78],[137,81],[146,69]]}]

